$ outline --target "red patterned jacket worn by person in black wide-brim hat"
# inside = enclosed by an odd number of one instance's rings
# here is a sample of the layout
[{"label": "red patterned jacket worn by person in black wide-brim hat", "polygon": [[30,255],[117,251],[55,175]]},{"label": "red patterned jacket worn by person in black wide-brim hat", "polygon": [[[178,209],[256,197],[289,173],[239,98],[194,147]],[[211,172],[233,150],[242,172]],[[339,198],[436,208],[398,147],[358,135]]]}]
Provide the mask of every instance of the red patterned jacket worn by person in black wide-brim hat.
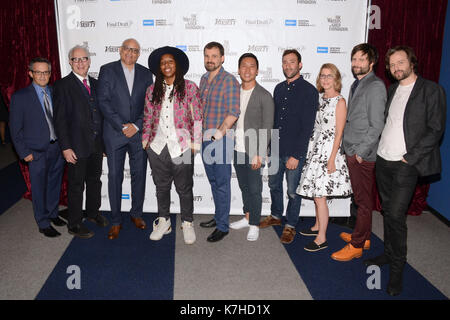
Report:
[{"label": "red patterned jacket worn by person in black wide-brim hat", "polygon": [[[174,94],[173,119],[181,149],[187,146],[199,150],[202,143],[203,110],[197,85],[193,81],[184,80],[185,97],[183,101]],[[152,143],[158,133],[162,103],[154,105],[152,101],[154,85],[146,93],[144,107],[144,124],[142,133],[143,145]]]}]

